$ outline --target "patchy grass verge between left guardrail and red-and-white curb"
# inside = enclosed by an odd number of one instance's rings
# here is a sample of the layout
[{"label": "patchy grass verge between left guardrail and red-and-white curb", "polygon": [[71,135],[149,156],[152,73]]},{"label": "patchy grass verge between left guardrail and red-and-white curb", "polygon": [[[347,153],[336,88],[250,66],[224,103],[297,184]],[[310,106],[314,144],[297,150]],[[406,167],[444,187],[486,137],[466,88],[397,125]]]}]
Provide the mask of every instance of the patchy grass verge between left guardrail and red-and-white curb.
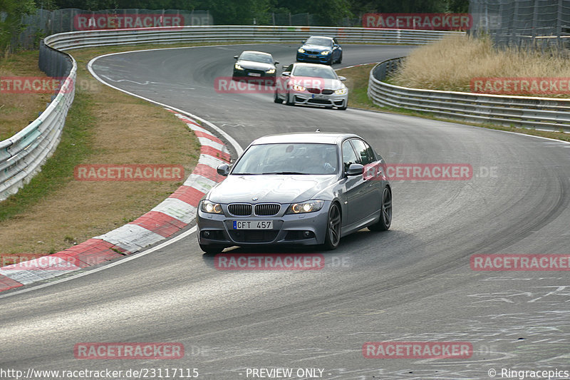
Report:
[{"label": "patchy grass verge between left guardrail and red-and-white curb", "polygon": [[[138,48],[72,51],[78,86],[61,143],[41,173],[0,203],[0,253],[64,250],[135,220],[182,184],[78,181],[76,165],[169,164],[182,165],[186,176],[191,173],[199,143],[184,123],[163,108],[95,81],[87,71],[94,56]],[[37,53],[12,59],[37,65]]]}]

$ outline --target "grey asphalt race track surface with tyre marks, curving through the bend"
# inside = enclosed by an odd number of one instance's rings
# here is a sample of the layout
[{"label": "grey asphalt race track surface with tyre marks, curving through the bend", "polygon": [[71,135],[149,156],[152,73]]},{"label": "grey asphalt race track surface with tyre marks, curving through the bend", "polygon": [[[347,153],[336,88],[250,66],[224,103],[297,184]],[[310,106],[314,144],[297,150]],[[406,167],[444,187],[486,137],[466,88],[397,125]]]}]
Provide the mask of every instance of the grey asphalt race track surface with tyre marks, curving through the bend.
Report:
[{"label": "grey asphalt race track surface with tyre marks, curving through the bend", "polygon": [[[219,271],[192,234],[78,279],[0,296],[0,368],[188,368],[198,379],[259,379],[247,372],[259,368],[294,369],[292,379],[310,379],[296,370],[322,369],[321,379],[382,380],[570,371],[569,272],[470,269],[474,254],[570,253],[570,144],[350,104],[347,111],[290,107],[275,104],[271,93],[214,91],[214,78],[231,76],[242,50],[267,51],[286,64],[295,48],[142,51],[99,58],[93,68],[113,86],[209,120],[243,148],[269,133],[353,132],[388,163],[467,163],[473,178],[393,182],[390,231],[362,230],[333,252],[296,251],[323,253],[322,270]],[[410,47],[343,50],[335,68],[403,56]],[[470,342],[473,353],[363,356],[365,342],[390,341]],[[78,360],[79,342],[178,342],[185,356]]]}]

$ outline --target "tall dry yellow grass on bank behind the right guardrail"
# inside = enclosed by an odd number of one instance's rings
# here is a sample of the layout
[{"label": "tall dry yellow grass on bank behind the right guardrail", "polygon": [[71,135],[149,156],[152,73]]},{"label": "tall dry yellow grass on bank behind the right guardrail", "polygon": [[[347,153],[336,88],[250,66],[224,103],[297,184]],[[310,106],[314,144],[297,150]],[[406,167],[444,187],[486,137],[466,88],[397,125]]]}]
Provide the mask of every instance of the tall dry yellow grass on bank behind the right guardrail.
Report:
[{"label": "tall dry yellow grass on bank behind the right guardrail", "polygon": [[478,77],[568,78],[570,60],[557,53],[495,49],[489,38],[450,36],[415,49],[390,83],[470,92],[471,79]]}]

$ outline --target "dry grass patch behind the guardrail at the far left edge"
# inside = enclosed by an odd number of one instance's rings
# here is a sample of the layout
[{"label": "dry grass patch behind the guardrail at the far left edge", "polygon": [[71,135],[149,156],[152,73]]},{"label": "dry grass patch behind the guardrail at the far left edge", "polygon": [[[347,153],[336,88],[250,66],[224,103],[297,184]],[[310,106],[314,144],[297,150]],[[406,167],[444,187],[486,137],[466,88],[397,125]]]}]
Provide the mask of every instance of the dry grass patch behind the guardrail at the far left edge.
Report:
[{"label": "dry grass patch behind the guardrail at the far left edge", "polygon": [[[38,76],[47,78],[38,68],[38,51],[14,54],[0,59],[0,78],[6,76]],[[10,138],[36,120],[38,112],[46,108],[50,94],[1,93],[0,141]]]}]

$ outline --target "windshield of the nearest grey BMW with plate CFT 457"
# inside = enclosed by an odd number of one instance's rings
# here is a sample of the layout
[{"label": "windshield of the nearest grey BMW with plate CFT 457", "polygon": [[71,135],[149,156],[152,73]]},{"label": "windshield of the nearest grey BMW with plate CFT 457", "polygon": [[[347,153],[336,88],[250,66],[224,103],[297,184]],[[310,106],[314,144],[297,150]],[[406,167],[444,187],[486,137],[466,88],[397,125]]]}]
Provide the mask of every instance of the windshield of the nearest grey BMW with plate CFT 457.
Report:
[{"label": "windshield of the nearest grey BMW with plate CFT 457", "polygon": [[336,145],[284,143],[252,145],[236,163],[234,175],[334,174],[338,170]]}]

